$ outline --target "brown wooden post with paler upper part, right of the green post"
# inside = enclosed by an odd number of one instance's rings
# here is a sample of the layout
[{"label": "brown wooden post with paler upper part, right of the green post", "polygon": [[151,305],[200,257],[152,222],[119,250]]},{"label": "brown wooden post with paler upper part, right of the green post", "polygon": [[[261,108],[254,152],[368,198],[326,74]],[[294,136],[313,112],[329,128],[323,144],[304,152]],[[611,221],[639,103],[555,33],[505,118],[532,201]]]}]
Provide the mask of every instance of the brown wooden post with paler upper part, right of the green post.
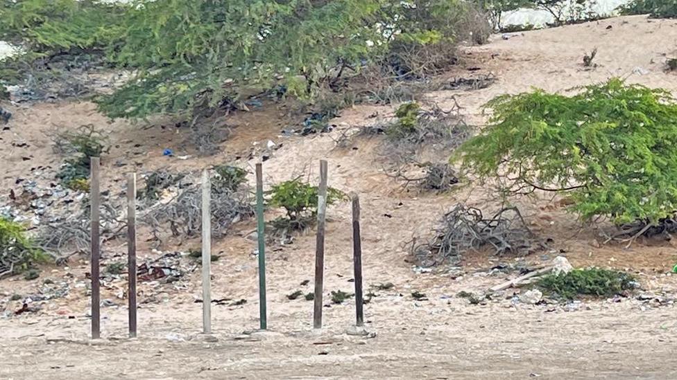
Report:
[{"label": "brown wooden post with paler upper part, right of the green post", "polygon": [[315,303],[313,327],[322,327],[322,292],[325,275],[325,215],[327,212],[327,161],[320,160],[320,188],[318,189],[318,230],[315,251]]}]

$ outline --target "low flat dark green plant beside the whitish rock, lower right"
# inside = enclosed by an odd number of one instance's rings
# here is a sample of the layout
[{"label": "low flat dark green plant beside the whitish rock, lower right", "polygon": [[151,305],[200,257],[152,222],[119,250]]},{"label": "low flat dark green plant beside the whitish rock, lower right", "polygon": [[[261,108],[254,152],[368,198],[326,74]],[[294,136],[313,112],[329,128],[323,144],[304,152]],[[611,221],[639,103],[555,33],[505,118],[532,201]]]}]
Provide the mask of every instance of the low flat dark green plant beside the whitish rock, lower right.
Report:
[{"label": "low flat dark green plant beside the whitish rock, lower right", "polygon": [[636,282],[629,273],[588,268],[545,275],[535,285],[550,296],[572,300],[576,296],[615,296],[624,290],[635,289]]}]

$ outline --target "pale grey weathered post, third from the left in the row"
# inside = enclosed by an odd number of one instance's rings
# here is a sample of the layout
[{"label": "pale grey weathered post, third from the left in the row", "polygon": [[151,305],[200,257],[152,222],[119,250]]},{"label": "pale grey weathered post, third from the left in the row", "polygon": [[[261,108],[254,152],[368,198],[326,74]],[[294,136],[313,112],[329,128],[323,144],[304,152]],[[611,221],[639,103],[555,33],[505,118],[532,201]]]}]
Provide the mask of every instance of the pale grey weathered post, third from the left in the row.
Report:
[{"label": "pale grey weathered post, third from the left in the row", "polygon": [[202,323],[205,334],[212,333],[212,291],[209,288],[212,263],[212,213],[209,210],[211,183],[207,170],[202,172]]}]

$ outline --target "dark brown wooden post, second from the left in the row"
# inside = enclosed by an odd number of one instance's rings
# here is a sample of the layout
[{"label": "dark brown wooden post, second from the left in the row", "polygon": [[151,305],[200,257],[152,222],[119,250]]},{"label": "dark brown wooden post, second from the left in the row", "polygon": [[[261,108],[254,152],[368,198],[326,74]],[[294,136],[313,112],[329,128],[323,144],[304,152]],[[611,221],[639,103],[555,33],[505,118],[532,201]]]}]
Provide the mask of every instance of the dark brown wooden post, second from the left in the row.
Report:
[{"label": "dark brown wooden post, second from the left in the row", "polygon": [[127,269],[129,336],[137,336],[137,174],[127,174]]}]

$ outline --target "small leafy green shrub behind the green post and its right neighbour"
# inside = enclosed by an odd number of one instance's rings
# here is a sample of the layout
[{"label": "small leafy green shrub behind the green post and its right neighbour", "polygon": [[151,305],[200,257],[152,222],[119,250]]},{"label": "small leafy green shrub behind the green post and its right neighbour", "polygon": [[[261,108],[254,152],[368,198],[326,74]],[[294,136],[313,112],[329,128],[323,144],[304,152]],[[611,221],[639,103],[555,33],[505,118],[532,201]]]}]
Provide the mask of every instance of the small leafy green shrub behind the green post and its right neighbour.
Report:
[{"label": "small leafy green shrub behind the green post and its right neighbour", "polygon": [[[277,219],[278,228],[304,230],[314,223],[318,208],[318,187],[302,183],[300,179],[292,179],[273,185],[269,201],[273,207],[281,207],[286,211],[286,218]],[[327,188],[327,206],[345,199],[345,194],[334,188]]]}]

